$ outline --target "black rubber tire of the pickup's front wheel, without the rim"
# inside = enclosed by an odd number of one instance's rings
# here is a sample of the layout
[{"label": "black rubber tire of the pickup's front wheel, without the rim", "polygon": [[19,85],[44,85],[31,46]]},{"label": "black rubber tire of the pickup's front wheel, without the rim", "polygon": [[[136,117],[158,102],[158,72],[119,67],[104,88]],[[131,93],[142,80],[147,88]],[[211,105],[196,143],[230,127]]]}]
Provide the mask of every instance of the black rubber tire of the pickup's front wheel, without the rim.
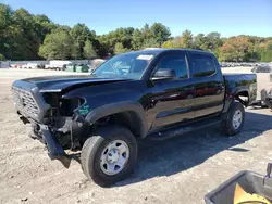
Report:
[{"label": "black rubber tire of the pickup's front wheel, without the rim", "polygon": [[[129,149],[129,157],[124,168],[109,176],[100,168],[100,157],[104,148],[114,140],[124,141]],[[100,187],[109,187],[133,173],[137,160],[138,145],[134,135],[122,126],[107,126],[97,129],[82,149],[81,163],[84,174]]]}]

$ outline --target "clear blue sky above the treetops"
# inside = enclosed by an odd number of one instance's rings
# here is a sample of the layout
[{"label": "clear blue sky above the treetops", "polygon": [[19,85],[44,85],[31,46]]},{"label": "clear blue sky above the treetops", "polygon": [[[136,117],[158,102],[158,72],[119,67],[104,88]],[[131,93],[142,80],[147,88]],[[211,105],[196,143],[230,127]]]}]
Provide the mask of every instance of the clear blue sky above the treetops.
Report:
[{"label": "clear blue sky above the treetops", "polygon": [[13,9],[46,14],[54,23],[86,24],[98,35],[118,27],[141,28],[159,22],[172,36],[189,29],[194,35],[219,31],[272,36],[272,0],[0,0]]}]

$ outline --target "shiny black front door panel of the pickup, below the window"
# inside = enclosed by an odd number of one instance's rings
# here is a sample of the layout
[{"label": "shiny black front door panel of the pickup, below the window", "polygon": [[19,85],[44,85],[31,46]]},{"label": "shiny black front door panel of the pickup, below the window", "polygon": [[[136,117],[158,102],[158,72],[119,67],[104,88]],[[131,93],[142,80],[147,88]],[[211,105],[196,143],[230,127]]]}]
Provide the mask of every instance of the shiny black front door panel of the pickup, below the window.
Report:
[{"label": "shiny black front door panel of the pickup, below the window", "polygon": [[194,84],[190,79],[156,82],[151,102],[156,111],[153,128],[194,118]]}]

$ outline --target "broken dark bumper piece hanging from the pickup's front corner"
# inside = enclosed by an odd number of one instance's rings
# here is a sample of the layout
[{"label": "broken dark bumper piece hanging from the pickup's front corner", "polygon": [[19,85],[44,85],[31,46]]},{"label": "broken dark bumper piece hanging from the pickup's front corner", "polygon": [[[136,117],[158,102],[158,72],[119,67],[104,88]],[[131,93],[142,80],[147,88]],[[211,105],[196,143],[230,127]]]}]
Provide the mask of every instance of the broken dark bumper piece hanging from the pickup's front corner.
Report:
[{"label": "broken dark bumper piece hanging from the pickup's front corner", "polygon": [[71,158],[64,152],[63,148],[58,142],[58,140],[54,138],[54,136],[51,133],[48,126],[40,125],[40,130],[42,132],[42,139],[46,142],[46,145],[48,149],[48,156],[51,160],[60,161],[64,167],[69,168],[69,166],[71,164]]}]

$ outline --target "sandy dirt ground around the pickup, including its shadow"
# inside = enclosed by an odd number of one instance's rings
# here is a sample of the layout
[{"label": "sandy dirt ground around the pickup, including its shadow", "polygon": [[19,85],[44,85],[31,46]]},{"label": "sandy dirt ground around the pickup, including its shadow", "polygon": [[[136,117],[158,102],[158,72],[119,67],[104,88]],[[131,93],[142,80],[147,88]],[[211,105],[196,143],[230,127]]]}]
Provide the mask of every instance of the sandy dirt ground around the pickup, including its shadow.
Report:
[{"label": "sandy dirt ground around the pickup, including its shadow", "polygon": [[163,142],[145,141],[135,173],[100,188],[86,179],[76,161],[69,169],[51,162],[15,114],[12,81],[52,74],[63,73],[0,69],[0,203],[199,204],[238,171],[264,174],[272,161],[272,112],[248,107],[238,136],[226,138],[214,126]]}]

